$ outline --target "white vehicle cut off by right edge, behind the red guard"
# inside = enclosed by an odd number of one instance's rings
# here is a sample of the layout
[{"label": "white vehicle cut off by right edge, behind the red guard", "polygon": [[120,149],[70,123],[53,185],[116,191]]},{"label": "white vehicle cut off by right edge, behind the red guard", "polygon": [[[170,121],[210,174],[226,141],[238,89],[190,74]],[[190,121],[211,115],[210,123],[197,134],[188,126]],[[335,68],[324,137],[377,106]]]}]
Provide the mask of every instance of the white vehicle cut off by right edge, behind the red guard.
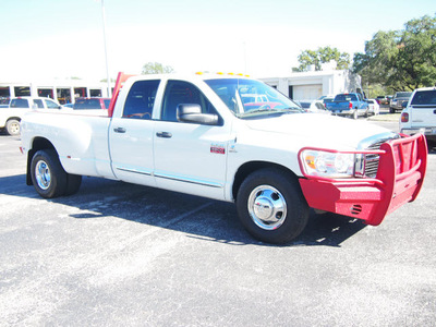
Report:
[{"label": "white vehicle cut off by right edge, behind the red guard", "polygon": [[416,88],[401,112],[400,131],[408,135],[422,133],[431,147],[436,146],[436,87]]}]

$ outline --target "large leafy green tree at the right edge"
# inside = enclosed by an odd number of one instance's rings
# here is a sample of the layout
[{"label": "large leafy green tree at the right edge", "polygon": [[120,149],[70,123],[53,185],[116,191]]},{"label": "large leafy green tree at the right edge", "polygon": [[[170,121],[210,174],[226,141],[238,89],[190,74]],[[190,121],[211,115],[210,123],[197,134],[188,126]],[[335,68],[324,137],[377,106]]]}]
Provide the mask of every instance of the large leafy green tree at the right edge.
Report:
[{"label": "large leafy green tree at the right edge", "polygon": [[436,16],[411,20],[401,31],[379,31],[354,53],[354,73],[367,84],[412,90],[436,83]]}]

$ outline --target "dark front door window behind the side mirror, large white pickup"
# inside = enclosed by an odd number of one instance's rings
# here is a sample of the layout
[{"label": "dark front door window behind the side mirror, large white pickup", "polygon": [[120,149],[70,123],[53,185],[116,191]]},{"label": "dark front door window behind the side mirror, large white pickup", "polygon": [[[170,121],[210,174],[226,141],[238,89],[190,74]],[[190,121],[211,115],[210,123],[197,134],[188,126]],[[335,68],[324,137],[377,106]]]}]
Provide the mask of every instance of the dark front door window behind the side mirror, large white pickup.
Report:
[{"label": "dark front door window behind the side mirror, large white pickup", "polygon": [[196,86],[187,82],[168,81],[164,96],[161,120],[178,121],[177,107],[181,104],[196,104],[202,107],[202,113],[218,114],[214,106]]}]

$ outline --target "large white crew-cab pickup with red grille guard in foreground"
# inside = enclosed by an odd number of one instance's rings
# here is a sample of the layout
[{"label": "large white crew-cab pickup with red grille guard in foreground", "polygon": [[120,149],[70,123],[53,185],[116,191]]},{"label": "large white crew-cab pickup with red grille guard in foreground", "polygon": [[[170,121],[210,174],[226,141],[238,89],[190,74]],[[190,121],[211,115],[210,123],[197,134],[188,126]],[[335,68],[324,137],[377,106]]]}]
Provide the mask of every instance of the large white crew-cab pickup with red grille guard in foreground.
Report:
[{"label": "large white crew-cab pickup with red grille guard in foreground", "polygon": [[249,77],[120,73],[108,111],[27,114],[27,184],[50,198],[93,175],[235,202],[253,237],[286,243],[310,207],[379,225],[425,175],[422,134],[304,113]]}]

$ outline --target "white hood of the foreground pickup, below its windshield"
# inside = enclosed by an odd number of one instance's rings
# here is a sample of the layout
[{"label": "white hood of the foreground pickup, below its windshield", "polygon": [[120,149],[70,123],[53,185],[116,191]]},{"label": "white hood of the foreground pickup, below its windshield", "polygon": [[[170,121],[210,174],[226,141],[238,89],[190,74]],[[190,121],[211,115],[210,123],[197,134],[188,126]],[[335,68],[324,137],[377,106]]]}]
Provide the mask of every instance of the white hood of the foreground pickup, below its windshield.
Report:
[{"label": "white hood of the foreground pickup, below its windshield", "polygon": [[366,121],[317,113],[291,113],[244,122],[249,129],[268,132],[272,137],[281,134],[304,146],[338,149],[355,149],[359,143],[374,135],[395,135],[388,129]]}]

